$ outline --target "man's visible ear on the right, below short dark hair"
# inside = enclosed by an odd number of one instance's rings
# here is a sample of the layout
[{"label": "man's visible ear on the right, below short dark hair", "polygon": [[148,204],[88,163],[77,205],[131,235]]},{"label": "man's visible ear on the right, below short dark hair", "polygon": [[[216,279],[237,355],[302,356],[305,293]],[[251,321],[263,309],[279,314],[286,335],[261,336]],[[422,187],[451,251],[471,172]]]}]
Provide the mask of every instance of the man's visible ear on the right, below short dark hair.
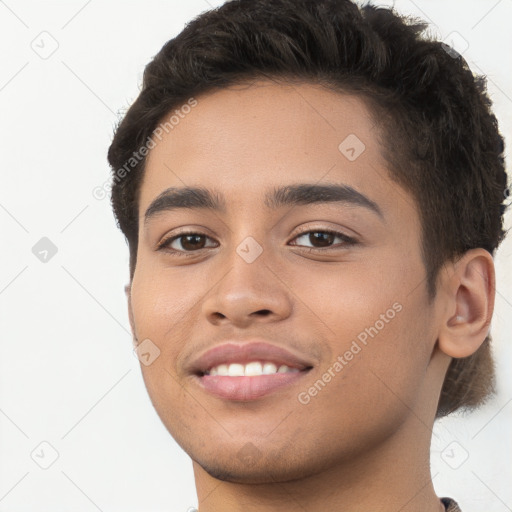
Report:
[{"label": "man's visible ear on the right, below short dark hair", "polygon": [[493,258],[485,249],[471,249],[450,264],[442,281],[446,307],[439,348],[451,357],[468,357],[489,333],[496,293]]}]

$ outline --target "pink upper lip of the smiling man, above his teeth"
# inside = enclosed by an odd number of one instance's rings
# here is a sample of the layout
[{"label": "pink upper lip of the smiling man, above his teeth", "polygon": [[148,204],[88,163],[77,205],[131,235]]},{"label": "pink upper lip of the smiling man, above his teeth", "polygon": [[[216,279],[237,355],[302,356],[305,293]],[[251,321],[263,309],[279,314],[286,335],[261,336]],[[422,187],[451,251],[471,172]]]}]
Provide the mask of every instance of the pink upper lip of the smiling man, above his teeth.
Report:
[{"label": "pink upper lip of the smiling man, above his teeth", "polygon": [[203,374],[219,364],[246,364],[251,361],[270,362],[278,367],[286,365],[299,370],[312,367],[311,362],[306,358],[284,347],[263,340],[243,343],[233,340],[216,345],[200,354],[192,361],[189,370],[191,373]]}]

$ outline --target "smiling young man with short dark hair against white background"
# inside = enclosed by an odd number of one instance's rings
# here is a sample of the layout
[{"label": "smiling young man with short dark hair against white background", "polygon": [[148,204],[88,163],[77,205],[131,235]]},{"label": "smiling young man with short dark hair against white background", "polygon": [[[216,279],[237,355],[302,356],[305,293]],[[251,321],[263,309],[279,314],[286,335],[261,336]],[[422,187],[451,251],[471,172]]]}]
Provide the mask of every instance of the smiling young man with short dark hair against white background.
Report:
[{"label": "smiling young man with short dark hair against white background", "polygon": [[134,341],[199,512],[459,510],[430,439],[493,390],[507,180],[484,80],[424,28],[235,0],[117,129]]}]

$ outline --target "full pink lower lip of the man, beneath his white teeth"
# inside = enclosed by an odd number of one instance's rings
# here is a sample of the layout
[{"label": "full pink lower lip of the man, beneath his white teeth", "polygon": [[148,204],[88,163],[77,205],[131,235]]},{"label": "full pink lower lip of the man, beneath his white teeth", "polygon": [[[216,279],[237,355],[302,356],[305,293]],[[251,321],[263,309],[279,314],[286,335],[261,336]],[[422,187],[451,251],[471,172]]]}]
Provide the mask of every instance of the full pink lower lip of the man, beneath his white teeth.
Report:
[{"label": "full pink lower lip of the man, beneath his white teeth", "polygon": [[254,377],[197,376],[200,385],[209,393],[227,400],[256,400],[300,380],[308,370],[275,373]]}]

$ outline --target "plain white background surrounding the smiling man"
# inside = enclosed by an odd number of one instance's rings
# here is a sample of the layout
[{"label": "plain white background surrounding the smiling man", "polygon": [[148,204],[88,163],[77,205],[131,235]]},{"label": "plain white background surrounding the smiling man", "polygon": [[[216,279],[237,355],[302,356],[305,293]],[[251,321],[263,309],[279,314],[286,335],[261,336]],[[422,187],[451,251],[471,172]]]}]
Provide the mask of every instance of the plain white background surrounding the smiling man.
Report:
[{"label": "plain white background surrounding the smiling man", "polygon": [[[127,247],[108,198],[92,190],[109,179],[107,148],[145,64],[221,3],[0,2],[0,512],[197,505],[190,459],[160,423],[131,351]],[[428,19],[459,50],[467,41],[464,57],[488,76],[510,145],[512,0],[396,8]],[[58,48],[43,59],[37,45]],[[57,248],[46,263],[32,253],[42,237]],[[511,252],[508,240],[496,258],[499,393],[434,430],[436,491],[463,512],[512,510]],[[49,464],[53,450],[57,460],[42,469],[36,460]]]}]

